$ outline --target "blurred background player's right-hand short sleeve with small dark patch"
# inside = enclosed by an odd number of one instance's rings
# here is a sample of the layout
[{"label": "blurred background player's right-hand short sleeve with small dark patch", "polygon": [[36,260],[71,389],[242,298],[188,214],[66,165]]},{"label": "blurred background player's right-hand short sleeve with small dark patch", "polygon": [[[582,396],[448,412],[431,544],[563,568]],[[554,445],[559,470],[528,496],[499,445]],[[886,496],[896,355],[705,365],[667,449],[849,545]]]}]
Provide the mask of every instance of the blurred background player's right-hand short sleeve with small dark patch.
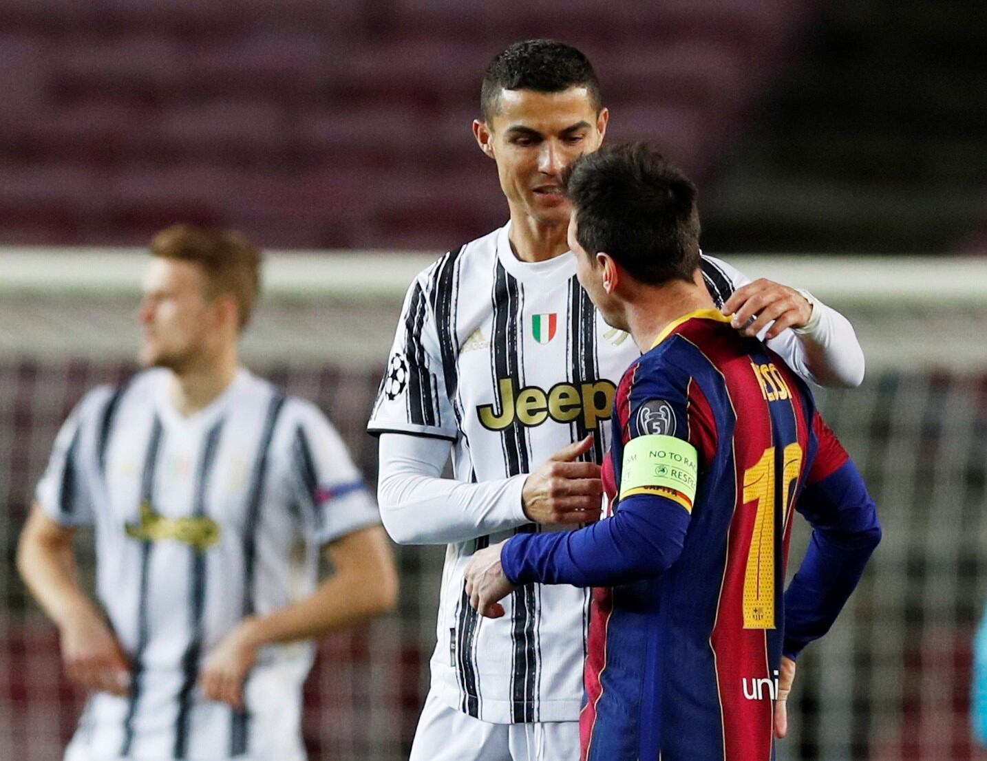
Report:
[{"label": "blurred background player's right-hand short sleeve with small dark patch", "polygon": [[340,434],[313,404],[292,399],[286,416],[287,480],[309,539],[319,545],[380,523],[380,513]]}]

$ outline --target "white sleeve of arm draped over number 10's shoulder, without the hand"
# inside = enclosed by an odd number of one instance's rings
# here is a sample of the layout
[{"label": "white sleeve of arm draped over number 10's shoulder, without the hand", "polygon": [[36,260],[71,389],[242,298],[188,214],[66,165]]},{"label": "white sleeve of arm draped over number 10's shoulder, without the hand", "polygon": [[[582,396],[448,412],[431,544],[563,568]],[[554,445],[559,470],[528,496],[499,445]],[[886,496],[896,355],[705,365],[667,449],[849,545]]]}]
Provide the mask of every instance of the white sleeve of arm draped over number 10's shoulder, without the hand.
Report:
[{"label": "white sleeve of arm draped over number 10's shoulder, without the hand", "polygon": [[[751,279],[736,267],[703,255],[703,271],[719,302]],[[819,386],[855,388],[864,380],[864,350],[846,317],[814,299],[812,317],[799,331],[783,331],[767,342],[800,376]],[[718,306],[722,306],[719,303]],[[763,340],[762,331],[759,338]]]}]

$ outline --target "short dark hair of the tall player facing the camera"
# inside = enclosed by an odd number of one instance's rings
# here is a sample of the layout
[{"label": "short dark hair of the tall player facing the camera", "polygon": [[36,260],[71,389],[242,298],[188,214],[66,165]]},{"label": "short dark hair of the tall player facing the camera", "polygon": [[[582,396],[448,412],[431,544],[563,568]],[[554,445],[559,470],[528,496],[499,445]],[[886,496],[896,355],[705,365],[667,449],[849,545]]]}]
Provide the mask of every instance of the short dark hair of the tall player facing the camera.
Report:
[{"label": "short dark hair of the tall player facing the camera", "polygon": [[480,107],[490,121],[501,90],[561,93],[570,87],[586,88],[590,103],[599,112],[600,83],[585,55],[555,39],[523,39],[493,56],[484,74]]}]

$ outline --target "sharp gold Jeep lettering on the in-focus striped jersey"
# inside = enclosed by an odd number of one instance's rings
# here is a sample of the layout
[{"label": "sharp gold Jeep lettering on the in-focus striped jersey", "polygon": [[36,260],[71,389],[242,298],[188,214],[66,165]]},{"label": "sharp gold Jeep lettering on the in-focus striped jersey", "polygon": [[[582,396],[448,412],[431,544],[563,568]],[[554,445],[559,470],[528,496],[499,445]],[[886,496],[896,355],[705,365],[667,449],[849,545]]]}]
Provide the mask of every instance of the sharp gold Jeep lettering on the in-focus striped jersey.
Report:
[{"label": "sharp gold Jeep lettering on the in-focus striped jersey", "polygon": [[617,387],[608,380],[594,383],[557,383],[547,392],[537,386],[514,391],[511,378],[500,378],[500,409],[493,405],[480,405],[477,415],[485,428],[503,430],[515,420],[526,427],[541,425],[547,419],[571,422],[582,417],[583,424],[595,428],[601,419],[610,417]]}]

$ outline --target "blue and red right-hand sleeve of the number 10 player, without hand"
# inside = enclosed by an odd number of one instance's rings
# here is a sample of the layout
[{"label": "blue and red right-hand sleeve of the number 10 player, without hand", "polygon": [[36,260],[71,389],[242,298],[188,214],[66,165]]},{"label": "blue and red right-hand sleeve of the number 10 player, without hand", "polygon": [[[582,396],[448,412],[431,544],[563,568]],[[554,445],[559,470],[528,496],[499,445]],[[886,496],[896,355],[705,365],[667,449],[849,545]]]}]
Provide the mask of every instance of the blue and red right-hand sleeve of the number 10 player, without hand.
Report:
[{"label": "blue and red right-hand sleeve of the number 10 player, without hand", "polygon": [[857,467],[840,454],[842,447],[818,417],[816,428],[822,432],[817,456],[822,468],[829,470],[826,461],[832,464],[834,453],[842,465],[818,480],[810,474],[797,501],[796,509],[812,525],[812,538],[785,592],[782,651],[792,659],[829,631],[881,536],[873,499]]}]

